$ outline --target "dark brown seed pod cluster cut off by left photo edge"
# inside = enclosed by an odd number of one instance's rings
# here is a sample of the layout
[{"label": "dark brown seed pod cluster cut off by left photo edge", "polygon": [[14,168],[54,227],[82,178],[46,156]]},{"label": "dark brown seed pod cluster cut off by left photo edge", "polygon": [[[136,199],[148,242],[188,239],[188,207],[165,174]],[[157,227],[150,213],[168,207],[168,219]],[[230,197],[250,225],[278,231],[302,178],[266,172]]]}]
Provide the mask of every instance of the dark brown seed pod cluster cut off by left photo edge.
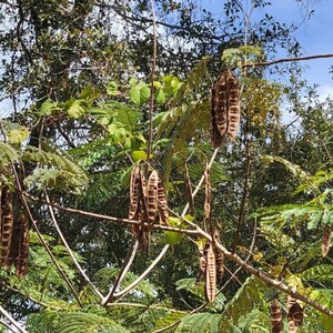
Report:
[{"label": "dark brown seed pod cluster cut off by left photo edge", "polygon": [[1,252],[0,264],[14,265],[18,278],[27,274],[29,258],[29,223],[24,214],[14,219],[11,192],[7,185],[0,188]]}]

